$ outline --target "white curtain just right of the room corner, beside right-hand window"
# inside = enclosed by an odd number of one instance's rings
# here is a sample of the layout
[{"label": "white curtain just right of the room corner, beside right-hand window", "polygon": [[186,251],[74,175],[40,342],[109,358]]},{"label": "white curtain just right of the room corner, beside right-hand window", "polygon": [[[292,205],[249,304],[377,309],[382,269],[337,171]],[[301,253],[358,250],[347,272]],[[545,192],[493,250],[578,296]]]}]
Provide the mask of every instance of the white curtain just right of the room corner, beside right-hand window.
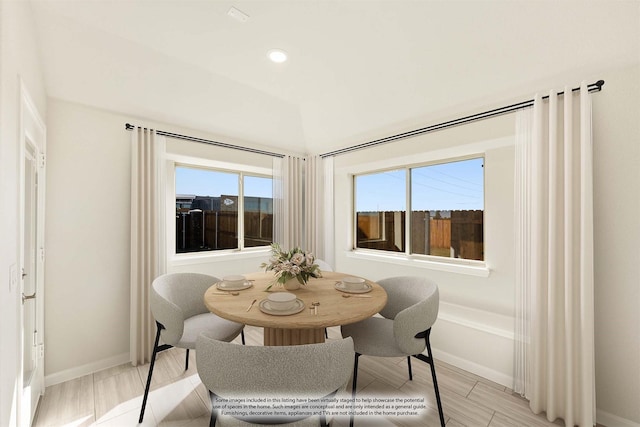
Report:
[{"label": "white curtain just right of the room corner, beside right-hand window", "polygon": [[304,208],[305,249],[333,266],[333,157],[307,158]]}]

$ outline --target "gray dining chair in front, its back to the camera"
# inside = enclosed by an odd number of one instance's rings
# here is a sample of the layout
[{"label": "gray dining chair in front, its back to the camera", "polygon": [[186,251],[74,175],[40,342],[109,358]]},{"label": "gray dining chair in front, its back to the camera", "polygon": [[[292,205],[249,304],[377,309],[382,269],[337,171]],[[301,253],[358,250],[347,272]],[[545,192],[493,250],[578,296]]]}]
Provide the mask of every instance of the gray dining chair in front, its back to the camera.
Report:
[{"label": "gray dining chair in front, its back to the camera", "polygon": [[[321,344],[262,347],[233,345],[202,333],[196,344],[196,364],[198,375],[211,397],[209,426],[285,423],[287,426],[293,423],[296,427],[326,426],[326,417],[317,408],[311,416],[278,416],[273,412],[259,415],[255,410],[241,416],[244,410],[240,409],[232,417],[221,414],[220,405],[227,399],[267,396],[287,402],[291,398],[309,399],[322,407],[346,388],[353,369],[352,360],[351,338]],[[308,403],[298,402],[280,409],[287,413],[302,413],[309,412],[308,408]]]}]

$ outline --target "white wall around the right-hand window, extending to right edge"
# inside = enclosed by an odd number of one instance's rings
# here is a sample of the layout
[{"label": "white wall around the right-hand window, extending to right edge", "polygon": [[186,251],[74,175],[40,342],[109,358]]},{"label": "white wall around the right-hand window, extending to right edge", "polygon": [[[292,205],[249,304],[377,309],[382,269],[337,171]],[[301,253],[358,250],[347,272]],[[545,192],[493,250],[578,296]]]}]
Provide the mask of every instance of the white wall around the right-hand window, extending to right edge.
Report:
[{"label": "white wall around the right-hand window, extending to right edge", "polygon": [[[598,422],[640,425],[640,67],[540,83],[604,79],[593,95],[595,215],[595,354]],[[567,80],[568,78],[568,80]],[[541,89],[542,89],[541,88]],[[521,98],[526,99],[526,98]],[[508,120],[507,122],[505,120]],[[442,131],[336,158],[336,200],[351,200],[349,173],[394,163],[418,162],[443,146],[513,134],[513,119]],[[471,150],[473,151],[473,150]],[[433,331],[435,356],[511,386],[513,363],[514,248],[513,149],[486,152],[486,261],[489,277],[430,270],[410,262],[353,256],[349,251],[350,204],[336,204],[336,269],[373,279],[426,274],[441,290]]]}]

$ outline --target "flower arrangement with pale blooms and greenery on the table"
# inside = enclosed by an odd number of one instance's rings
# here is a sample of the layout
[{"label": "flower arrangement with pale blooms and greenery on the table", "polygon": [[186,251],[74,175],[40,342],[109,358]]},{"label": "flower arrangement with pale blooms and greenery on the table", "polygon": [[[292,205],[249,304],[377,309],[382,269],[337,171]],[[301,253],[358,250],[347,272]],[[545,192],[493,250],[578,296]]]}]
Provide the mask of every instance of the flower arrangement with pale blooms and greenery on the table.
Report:
[{"label": "flower arrangement with pale blooms and greenery on the table", "polygon": [[276,280],[267,287],[280,284],[291,279],[297,279],[301,285],[306,285],[311,277],[322,277],[322,272],[318,264],[314,264],[315,257],[313,254],[305,253],[300,248],[293,248],[289,251],[283,250],[280,245],[273,243],[271,245],[271,259],[268,263],[263,262],[260,268],[264,271],[273,271],[276,274]]}]

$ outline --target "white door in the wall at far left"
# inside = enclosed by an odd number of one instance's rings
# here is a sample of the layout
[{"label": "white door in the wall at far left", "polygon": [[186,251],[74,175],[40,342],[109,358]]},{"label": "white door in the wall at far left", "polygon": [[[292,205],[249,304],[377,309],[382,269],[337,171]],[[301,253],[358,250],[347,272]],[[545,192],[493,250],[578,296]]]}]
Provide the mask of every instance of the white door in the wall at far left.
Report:
[{"label": "white door in the wall at far left", "polygon": [[[24,89],[24,88],[23,88]],[[30,426],[44,393],[44,143],[45,130],[26,91],[21,109],[20,426]]]}]

